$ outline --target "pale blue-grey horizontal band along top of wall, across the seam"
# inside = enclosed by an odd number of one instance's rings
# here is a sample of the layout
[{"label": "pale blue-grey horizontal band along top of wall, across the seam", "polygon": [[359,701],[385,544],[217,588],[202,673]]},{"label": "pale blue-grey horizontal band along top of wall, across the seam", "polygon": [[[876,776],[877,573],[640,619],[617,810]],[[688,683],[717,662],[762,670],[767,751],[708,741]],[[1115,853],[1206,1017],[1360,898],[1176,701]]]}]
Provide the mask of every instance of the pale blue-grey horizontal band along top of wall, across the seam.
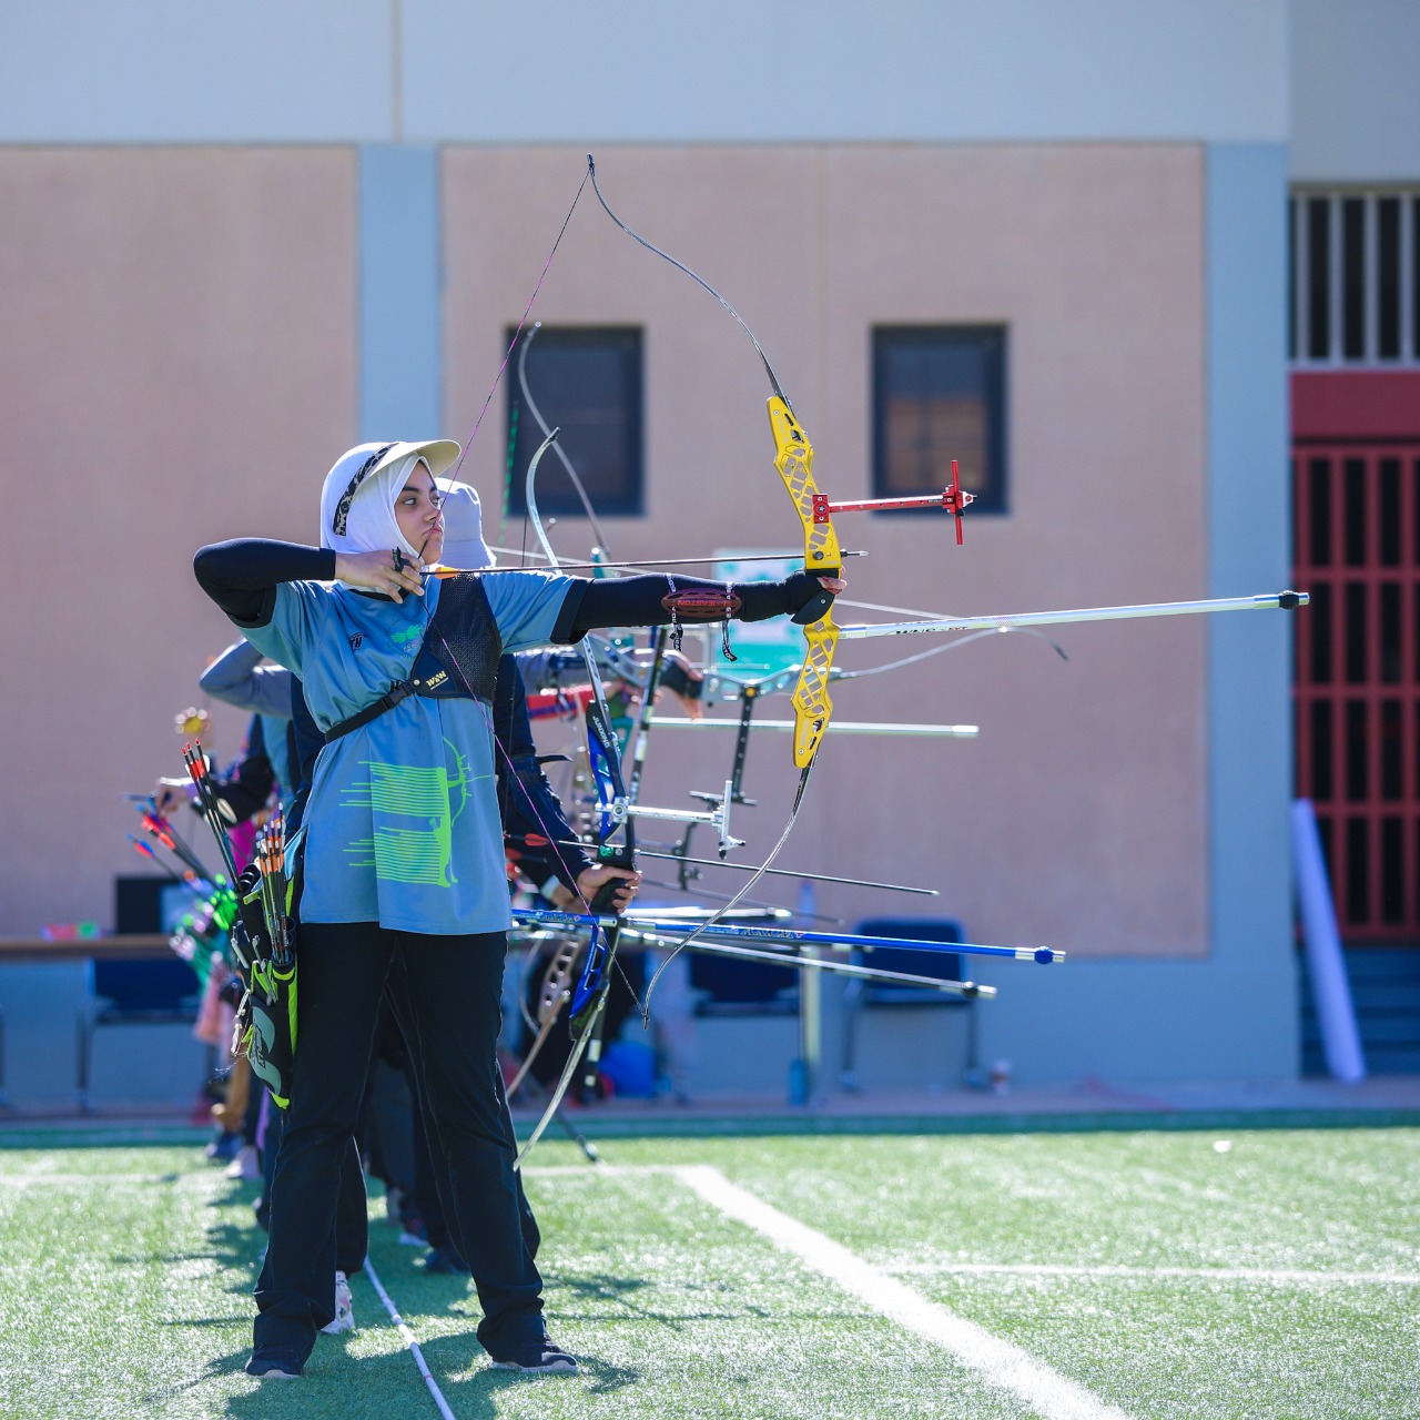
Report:
[{"label": "pale blue-grey horizontal band along top of wall, across the seam", "polygon": [[1285,0],[51,0],[0,142],[1264,139]]}]

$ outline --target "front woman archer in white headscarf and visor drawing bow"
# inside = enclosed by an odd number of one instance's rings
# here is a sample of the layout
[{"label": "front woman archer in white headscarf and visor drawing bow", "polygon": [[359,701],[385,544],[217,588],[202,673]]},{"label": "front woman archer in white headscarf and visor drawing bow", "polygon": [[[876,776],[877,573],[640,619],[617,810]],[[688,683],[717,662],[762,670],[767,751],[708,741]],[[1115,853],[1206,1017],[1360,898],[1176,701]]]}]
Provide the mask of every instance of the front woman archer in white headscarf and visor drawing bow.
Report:
[{"label": "front woman archer in white headscarf and visor drawing bow", "polygon": [[403,960],[415,1068],[439,1122],[456,1234],[496,1366],[574,1372],[547,1335],[497,1065],[510,907],[490,720],[504,650],[575,645],[588,630],[761,621],[826,604],[836,578],[726,585],[591,581],[535,571],[435,577],[436,483],[450,440],[362,444],[321,496],[321,547],[240,540],[195,571],[241,633],[298,674],[325,736],[304,822],[300,1035],[271,1184],[247,1372],[301,1375],[335,1316],[334,1207],[381,991]]}]

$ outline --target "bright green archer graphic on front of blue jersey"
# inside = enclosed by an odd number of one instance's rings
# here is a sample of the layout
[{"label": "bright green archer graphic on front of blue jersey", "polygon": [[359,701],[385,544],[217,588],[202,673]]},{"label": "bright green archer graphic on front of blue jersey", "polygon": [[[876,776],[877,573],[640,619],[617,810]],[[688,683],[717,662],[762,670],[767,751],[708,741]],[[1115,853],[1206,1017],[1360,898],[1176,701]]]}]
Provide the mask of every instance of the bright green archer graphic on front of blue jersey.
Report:
[{"label": "bright green archer graphic on front of blue jersey", "polygon": [[359,838],[345,849],[351,868],[373,868],[385,882],[452,888],[453,825],[469,804],[469,763],[447,740],[454,777],[440,764],[361,763],[369,778],[352,784],[342,799],[346,808],[369,808],[373,836]]}]

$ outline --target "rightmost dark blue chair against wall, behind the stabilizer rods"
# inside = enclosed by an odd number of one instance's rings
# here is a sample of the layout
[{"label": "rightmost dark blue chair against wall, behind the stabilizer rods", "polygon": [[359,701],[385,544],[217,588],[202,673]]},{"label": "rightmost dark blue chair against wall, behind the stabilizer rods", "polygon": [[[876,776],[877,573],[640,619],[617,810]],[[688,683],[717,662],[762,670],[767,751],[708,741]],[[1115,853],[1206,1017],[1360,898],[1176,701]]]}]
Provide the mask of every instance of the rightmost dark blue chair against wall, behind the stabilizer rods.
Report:
[{"label": "rightmost dark blue chair against wall, behind the stabilizer rods", "polygon": [[[868,917],[853,932],[863,937],[916,937],[919,941],[966,941],[961,923],[953,917]],[[966,981],[970,971],[960,951],[912,951],[906,947],[873,947],[855,951],[858,966],[879,971],[902,971],[909,976],[934,977],[939,981]],[[889,981],[868,981],[849,977],[843,991],[843,1071],[839,1083],[846,1091],[858,1089],[856,1035],[858,1017],[866,1008],[916,1008],[960,1011],[966,1018],[966,1064],[961,1079],[966,1085],[980,1083],[977,1062],[976,997],[933,991],[926,985],[896,985]]]}]

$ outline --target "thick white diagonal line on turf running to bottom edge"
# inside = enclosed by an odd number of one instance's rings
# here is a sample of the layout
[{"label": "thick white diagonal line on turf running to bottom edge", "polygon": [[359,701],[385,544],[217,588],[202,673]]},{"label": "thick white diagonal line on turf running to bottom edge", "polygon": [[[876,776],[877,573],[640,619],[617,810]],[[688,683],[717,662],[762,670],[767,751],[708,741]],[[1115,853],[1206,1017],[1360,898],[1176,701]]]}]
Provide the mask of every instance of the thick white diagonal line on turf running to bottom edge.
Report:
[{"label": "thick white diagonal line on turf running to bottom edge", "polygon": [[1123,1410],[1105,1404],[1020,1346],[929,1302],[841,1242],[730,1183],[719,1169],[683,1164],[673,1173],[726,1217],[754,1228],[875,1311],[951,1352],[988,1384],[1024,1400],[1042,1420],[1129,1420]]}]

